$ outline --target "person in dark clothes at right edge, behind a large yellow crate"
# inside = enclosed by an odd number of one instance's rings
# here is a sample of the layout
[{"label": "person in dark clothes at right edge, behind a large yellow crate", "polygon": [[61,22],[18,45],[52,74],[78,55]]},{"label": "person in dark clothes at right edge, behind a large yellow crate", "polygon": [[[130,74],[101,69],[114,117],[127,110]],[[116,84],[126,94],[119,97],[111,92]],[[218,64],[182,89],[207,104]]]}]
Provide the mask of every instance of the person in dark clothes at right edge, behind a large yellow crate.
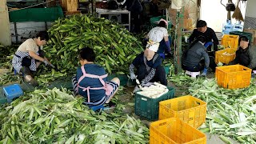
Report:
[{"label": "person in dark clothes at right edge, behind a large yellow crate", "polygon": [[238,50],[235,53],[236,57],[228,65],[240,64],[256,70],[256,46],[250,46],[249,39],[246,36],[239,38],[238,45]]}]

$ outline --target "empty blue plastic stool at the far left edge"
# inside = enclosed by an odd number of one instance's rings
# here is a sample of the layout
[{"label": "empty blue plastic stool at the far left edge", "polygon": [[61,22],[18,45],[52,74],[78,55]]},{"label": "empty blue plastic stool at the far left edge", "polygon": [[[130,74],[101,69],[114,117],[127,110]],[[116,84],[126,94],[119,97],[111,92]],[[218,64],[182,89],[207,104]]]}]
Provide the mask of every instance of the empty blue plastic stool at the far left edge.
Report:
[{"label": "empty blue plastic stool at the far left edge", "polygon": [[4,96],[7,99],[7,102],[12,102],[14,98],[18,98],[24,94],[21,86],[18,84],[3,86],[2,90],[4,92]]}]

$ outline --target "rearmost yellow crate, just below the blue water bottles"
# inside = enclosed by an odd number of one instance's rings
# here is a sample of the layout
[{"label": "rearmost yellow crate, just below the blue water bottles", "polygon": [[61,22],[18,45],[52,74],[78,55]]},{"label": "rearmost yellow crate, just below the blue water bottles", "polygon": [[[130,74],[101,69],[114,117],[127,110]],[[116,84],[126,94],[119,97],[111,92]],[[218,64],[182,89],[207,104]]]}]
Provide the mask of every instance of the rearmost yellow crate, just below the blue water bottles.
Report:
[{"label": "rearmost yellow crate, just below the blue water bottles", "polygon": [[222,46],[225,48],[238,49],[239,35],[224,34],[222,36]]}]

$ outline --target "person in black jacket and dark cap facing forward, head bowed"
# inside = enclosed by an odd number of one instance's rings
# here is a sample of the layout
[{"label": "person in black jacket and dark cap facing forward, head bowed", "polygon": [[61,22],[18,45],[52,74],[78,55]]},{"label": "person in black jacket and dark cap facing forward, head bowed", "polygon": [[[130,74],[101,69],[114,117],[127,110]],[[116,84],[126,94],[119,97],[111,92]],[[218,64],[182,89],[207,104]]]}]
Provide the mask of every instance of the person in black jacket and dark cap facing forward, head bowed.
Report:
[{"label": "person in black jacket and dark cap facing forward, head bowed", "polygon": [[218,50],[218,38],[213,29],[207,27],[207,23],[203,20],[199,20],[197,23],[197,29],[194,29],[193,33],[190,35],[188,39],[189,42],[193,42],[194,39],[198,38],[199,36],[204,36],[206,38],[205,46],[209,48],[214,44],[214,51]]}]

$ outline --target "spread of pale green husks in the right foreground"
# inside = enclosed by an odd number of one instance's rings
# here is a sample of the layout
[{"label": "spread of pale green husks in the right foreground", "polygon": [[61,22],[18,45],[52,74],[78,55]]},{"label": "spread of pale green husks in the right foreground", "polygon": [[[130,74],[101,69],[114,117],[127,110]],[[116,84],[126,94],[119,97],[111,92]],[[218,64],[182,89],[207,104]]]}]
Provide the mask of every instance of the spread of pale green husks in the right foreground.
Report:
[{"label": "spread of pale green husks in the right foreground", "polygon": [[219,87],[214,78],[190,78],[184,74],[170,77],[177,86],[189,87],[187,94],[207,102],[203,132],[218,134],[226,143],[229,138],[242,143],[256,142],[256,80],[249,87],[229,90]]}]

